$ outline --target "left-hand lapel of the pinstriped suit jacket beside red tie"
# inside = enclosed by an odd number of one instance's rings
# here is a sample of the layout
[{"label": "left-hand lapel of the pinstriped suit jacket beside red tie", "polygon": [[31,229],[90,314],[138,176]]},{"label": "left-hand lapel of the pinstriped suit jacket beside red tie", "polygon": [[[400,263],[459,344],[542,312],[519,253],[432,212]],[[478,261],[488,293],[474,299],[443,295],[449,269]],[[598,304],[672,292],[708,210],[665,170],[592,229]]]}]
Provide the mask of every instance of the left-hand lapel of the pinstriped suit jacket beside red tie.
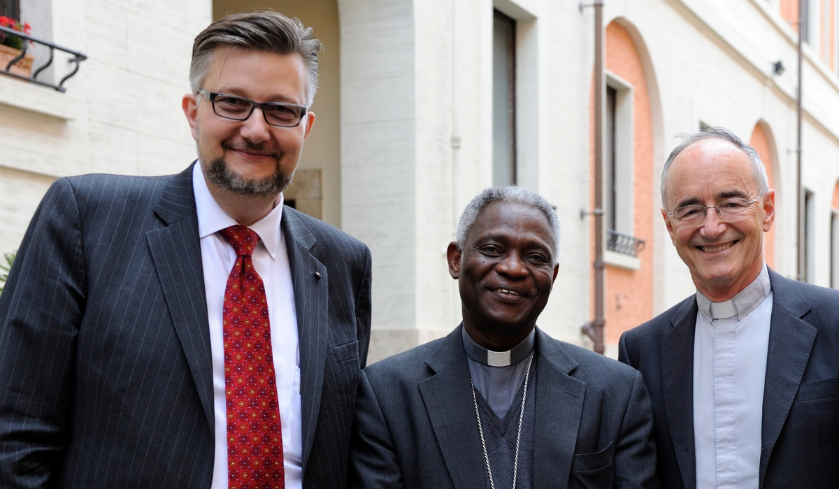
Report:
[{"label": "left-hand lapel of the pinstriped suit jacket beside red tie", "polygon": [[154,213],[166,226],[146,234],[149,250],[207,423],[215,436],[210,325],[192,165],[169,182],[154,206]]}]

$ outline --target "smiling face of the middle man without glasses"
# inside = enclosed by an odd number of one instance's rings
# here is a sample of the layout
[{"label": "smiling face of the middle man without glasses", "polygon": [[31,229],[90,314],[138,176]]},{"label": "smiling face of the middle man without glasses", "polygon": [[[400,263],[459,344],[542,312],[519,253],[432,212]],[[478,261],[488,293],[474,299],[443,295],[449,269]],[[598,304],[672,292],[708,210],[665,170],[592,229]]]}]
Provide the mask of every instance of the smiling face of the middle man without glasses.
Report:
[{"label": "smiling face of the middle man without glasses", "polygon": [[484,206],[462,250],[449,245],[449,273],[458,280],[463,325],[473,340],[504,351],[529,334],[556,278],[554,249],[542,211],[504,200]]}]

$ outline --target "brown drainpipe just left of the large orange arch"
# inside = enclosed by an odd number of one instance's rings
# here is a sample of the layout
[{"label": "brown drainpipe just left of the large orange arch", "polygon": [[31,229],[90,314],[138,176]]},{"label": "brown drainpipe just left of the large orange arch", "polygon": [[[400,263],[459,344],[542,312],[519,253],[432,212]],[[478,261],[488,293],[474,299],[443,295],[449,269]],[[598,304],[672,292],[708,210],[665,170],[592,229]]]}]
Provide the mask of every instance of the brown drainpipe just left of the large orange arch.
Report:
[{"label": "brown drainpipe just left of the large orange arch", "polygon": [[[603,354],[606,318],[603,298],[606,293],[603,276],[603,95],[606,91],[603,72],[603,0],[594,7],[594,320],[582,331],[594,341],[594,351]],[[580,5],[583,8],[584,5]]]}]

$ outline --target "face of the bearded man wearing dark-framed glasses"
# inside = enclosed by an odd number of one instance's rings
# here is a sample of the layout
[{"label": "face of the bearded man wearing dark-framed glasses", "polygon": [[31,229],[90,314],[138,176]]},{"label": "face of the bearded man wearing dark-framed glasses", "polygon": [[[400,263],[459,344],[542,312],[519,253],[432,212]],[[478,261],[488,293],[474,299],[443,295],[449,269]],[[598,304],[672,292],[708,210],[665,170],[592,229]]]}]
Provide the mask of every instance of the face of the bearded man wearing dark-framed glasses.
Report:
[{"label": "face of the bearded man wearing dark-framed glasses", "polygon": [[[253,101],[305,105],[306,70],[300,55],[219,46],[204,79],[206,91]],[[274,127],[260,109],[245,121],[219,117],[205,96],[187,94],[183,108],[209,185],[234,194],[276,196],[289,185],[315,115],[297,127]]]}]

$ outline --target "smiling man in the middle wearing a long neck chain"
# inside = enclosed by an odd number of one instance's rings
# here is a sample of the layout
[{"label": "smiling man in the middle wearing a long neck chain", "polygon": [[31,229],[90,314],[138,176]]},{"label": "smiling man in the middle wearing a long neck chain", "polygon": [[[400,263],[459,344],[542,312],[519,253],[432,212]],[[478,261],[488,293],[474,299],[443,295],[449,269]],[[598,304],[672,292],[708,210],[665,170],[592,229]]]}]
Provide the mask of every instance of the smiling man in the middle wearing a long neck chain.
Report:
[{"label": "smiling man in the middle wearing a long neck chain", "polygon": [[559,247],[534,192],[472,199],[447,251],[462,325],[362,371],[350,487],[658,487],[638,372],[535,327]]}]

